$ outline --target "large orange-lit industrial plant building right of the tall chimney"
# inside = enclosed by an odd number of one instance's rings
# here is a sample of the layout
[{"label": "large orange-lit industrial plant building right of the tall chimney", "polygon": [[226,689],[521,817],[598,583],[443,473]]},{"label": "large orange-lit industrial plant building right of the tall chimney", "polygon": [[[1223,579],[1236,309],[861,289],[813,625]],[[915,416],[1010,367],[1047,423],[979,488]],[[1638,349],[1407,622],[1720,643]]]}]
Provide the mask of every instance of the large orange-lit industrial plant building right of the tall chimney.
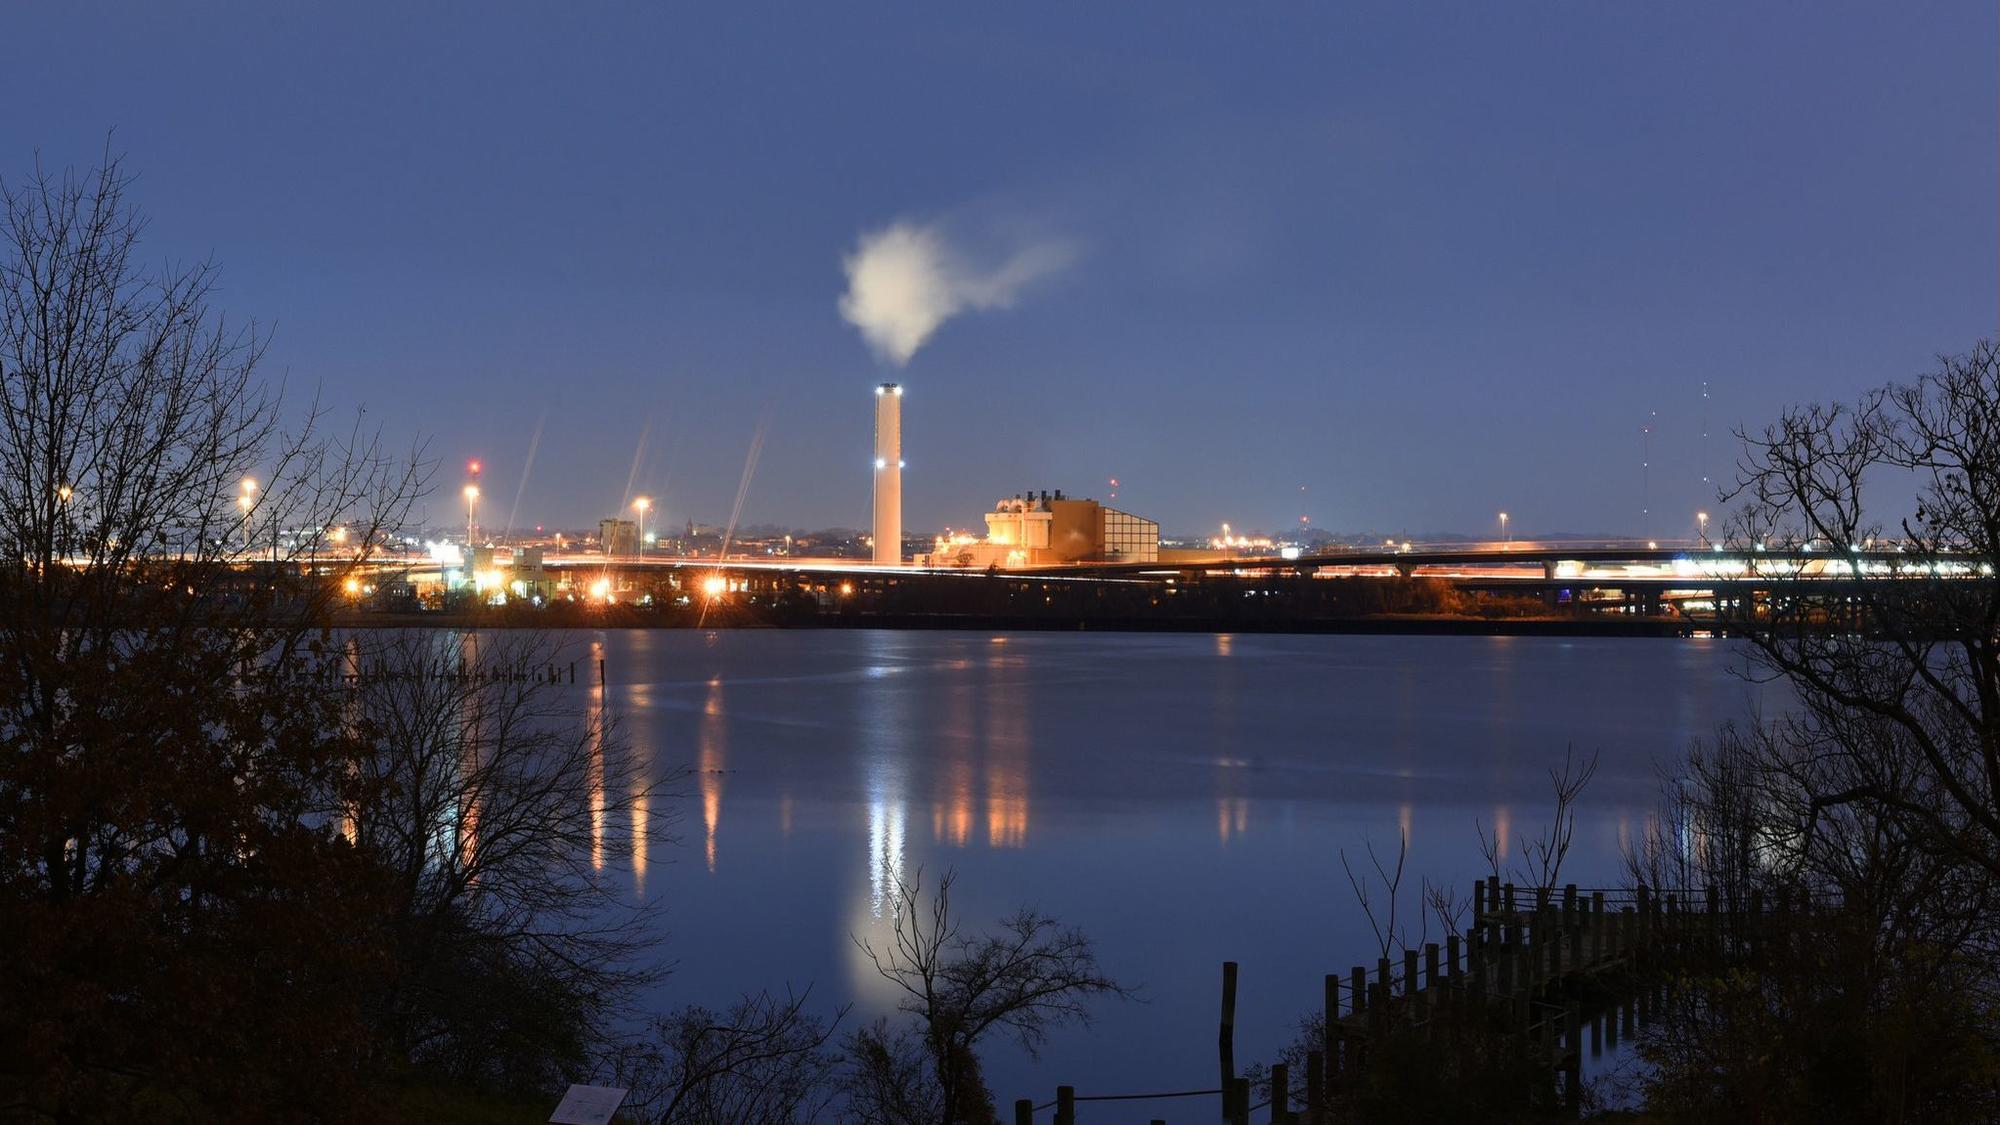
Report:
[{"label": "large orange-lit industrial plant building right of the tall chimney", "polygon": [[1052,567],[1062,562],[1158,562],[1160,524],[1132,512],[1076,500],[1058,488],[1026,492],[986,512],[986,538],[938,538],[930,567]]}]

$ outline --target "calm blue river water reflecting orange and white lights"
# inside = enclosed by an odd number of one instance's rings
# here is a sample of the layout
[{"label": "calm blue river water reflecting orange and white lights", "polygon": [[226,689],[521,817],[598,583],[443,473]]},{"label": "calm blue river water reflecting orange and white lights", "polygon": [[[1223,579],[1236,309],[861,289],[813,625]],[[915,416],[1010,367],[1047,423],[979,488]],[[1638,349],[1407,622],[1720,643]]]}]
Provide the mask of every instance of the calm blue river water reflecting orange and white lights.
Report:
[{"label": "calm blue river water reflecting orange and white lights", "polygon": [[[1616,879],[1658,767],[1762,699],[1720,641],[978,633],[584,635],[656,771],[686,767],[682,843],[626,873],[676,963],[658,1005],[812,985],[894,995],[854,937],[898,875],[956,869],[984,923],[1080,925],[1144,1003],[1040,1059],[994,1041],[1006,1109],[1208,1087],[1220,963],[1238,1057],[1270,1057],[1330,971],[1372,961],[1340,851],[1410,841],[1410,883],[1470,885],[1474,823],[1532,833],[1566,747],[1602,753],[1566,877]],[[1412,891],[1414,899],[1414,891]],[[852,1019],[852,1017],[850,1017]],[[1188,1117],[1174,1103],[1092,1121]],[[1202,1113],[1200,1117],[1206,1117]]]}]

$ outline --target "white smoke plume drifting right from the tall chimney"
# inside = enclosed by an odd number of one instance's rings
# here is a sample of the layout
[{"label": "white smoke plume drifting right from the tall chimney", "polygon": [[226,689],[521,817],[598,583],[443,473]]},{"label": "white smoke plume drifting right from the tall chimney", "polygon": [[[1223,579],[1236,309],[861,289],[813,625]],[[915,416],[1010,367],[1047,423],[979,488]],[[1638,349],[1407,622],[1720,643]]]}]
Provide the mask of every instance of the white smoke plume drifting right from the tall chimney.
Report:
[{"label": "white smoke plume drifting right from the tall chimney", "polygon": [[840,314],[862,330],[868,346],[900,366],[952,316],[966,308],[1006,308],[1026,284],[1074,258],[1070,244],[1050,240],[980,270],[940,226],[894,222],[862,234],[846,256],[848,292],[840,298]]}]

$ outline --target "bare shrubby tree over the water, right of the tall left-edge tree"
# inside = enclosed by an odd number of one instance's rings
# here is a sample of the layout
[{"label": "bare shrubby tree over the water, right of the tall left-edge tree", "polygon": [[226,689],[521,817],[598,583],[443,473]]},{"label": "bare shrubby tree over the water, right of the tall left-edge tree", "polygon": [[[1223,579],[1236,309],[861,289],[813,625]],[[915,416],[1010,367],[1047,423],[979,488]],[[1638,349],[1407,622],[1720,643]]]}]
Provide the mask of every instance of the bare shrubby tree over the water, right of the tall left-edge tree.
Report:
[{"label": "bare shrubby tree over the water, right of the tall left-edge tree", "polygon": [[[594,1029],[654,977],[648,915],[606,871],[672,843],[680,775],[648,775],[606,703],[554,675],[572,647],[534,631],[378,633],[334,665],[352,671],[358,743],[338,815],[392,875],[402,973],[382,1041],[460,1081],[556,1083],[552,1067],[580,1067]],[[486,1003],[518,983],[568,1007],[532,1027]]]}]

